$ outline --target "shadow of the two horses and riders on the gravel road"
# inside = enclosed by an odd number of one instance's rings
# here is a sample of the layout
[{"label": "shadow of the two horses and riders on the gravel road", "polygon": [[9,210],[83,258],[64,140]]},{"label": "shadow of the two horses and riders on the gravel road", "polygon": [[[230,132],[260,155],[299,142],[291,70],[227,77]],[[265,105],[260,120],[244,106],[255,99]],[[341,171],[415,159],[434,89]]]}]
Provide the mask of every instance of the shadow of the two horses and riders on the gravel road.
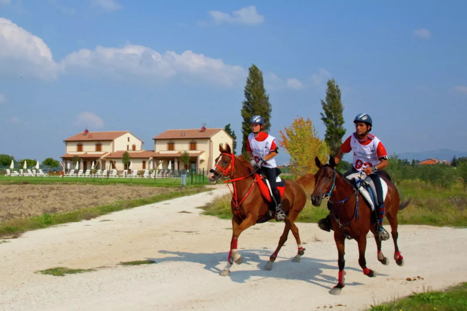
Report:
[{"label": "shadow of the two horses and riders on the gravel road", "polygon": [[[204,269],[212,273],[219,274],[224,265],[226,265],[227,252],[220,253],[189,253],[160,250],[161,254],[171,254],[170,257],[162,258],[147,258],[147,260],[155,261],[156,263],[163,262],[193,262],[204,265]],[[338,265],[337,260],[323,260],[318,258],[302,257],[301,262],[292,262],[290,258],[278,256],[273,263],[272,270],[265,270],[264,265],[269,260],[270,252],[256,249],[242,249],[240,251],[243,257],[241,265],[233,264],[230,268],[230,279],[233,282],[245,283],[250,278],[260,277],[276,277],[287,280],[298,280],[307,283],[312,283],[331,290],[337,284]],[[264,260],[260,256],[267,256],[268,259]],[[245,265],[255,266],[256,269],[242,269]],[[219,269],[218,266],[221,268]],[[335,271],[335,276],[329,276],[323,272],[324,269],[331,269]],[[346,270],[358,271],[361,273],[361,268],[354,268],[346,266]],[[378,274],[379,276],[387,276]],[[220,276],[219,276],[220,277]],[[255,278],[255,280],[258,280]],[[323,284],[324,283],[324,284]],[[326,286],[329,284],[329,286]],[[346,286],[363,285],[363,283],[353,282],[346,283]]]}]

